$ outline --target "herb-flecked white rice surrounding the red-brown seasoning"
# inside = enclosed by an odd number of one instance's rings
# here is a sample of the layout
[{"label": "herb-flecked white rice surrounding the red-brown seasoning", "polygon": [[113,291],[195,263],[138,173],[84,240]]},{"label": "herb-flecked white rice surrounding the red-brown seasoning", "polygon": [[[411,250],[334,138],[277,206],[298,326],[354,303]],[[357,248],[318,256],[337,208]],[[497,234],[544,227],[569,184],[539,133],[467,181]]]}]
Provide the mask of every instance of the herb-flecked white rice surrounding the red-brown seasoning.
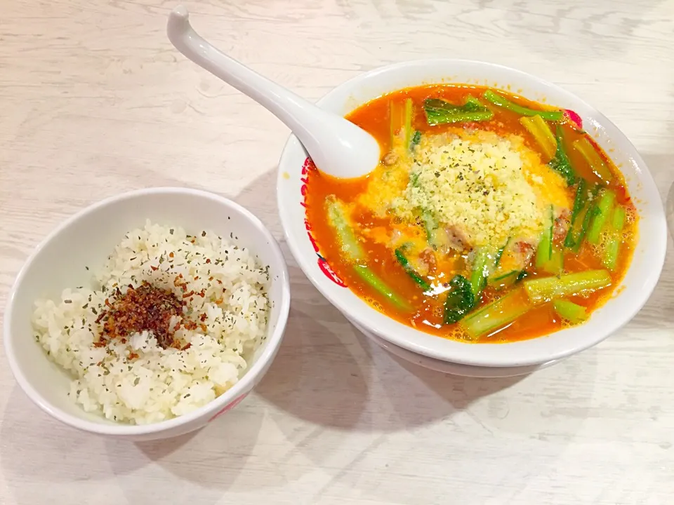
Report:
[{"label": "herb-flecked white rice surrounding the red-brown seasoning", "polygon": [[[196,293],[185,298],[183,323],[201,325],[176,331],[175,338],[190,344],[187,349],[162,349],[147,331],[130,335],[126,344],[115,339],[94,346],[103,325],[96,320],[117,286],[124,293],[129,284],[147,281],[183,299],[174,285],[180,274],[187,292]],[[131,424],[159,422],[199,408],[236,384],[246,359],[265,339],[268,283],[268,267],[249,250],[211,231],[190,237],[179,227],[148,221],[117,245],[93,290],[67,289],[60,301],[37,300],[35,338],[74,377],[70,396],[86,412]],[[202,290],[204,297],[198,295]]]}]

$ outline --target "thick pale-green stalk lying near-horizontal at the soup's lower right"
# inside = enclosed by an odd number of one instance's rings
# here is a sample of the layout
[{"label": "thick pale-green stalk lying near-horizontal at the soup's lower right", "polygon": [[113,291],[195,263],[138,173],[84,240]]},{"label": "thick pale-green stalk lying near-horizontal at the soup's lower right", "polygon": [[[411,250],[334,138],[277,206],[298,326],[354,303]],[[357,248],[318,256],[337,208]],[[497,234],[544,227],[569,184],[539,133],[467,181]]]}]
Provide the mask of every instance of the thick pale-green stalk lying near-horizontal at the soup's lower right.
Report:
[{"label": "thick pale-green stalk lying near-horizontal at the soup's lower right", "polygon": [[550,302],[556,298],[579,295],[585,291],[595,291],[611,284],[611,276],[606,270],[588,270],[576,274],[555,277],[537,277],[524,281],[529,299],[534,304]]}]

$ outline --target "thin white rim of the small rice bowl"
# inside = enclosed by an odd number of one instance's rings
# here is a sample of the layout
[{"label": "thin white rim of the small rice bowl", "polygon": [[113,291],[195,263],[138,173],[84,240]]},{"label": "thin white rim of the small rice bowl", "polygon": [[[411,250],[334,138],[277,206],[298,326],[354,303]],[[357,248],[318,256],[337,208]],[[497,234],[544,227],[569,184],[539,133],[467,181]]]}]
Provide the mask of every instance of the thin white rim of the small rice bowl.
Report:
[{"label": "thin white rim of the small rice bowl", "polygon": [[[281,283],[282,290],[280,299],[275,300],[275,303],[277,303],[279,307],[279,318],[276,327],[274,328],[274,331],[269,337],[267,337],[265,348],[263,349],[262,354],[260,354],[256,362],[253,363],[253,365],[246,370],[243,377],[239,379],[239,381],[236,384],[234,384],[234,386],[232,386],[230,389],[227,389],[225,393],[221,394],[214,400],[211,400],[209,403],[206,403],[206,405],[203,405],[200,408],[193,410],[192,412],[188,412],[185,415],[173,417],[171,419],[166,419],[165,421],[160,421],[151,424],[122,424],[114,422],[99,423],[90,421],[88,419],[82,419],[81,417],[71,415],[61,410],[60,408],[52,405],[51,402],[46,400],[44,396],[42,396],[33,388],[33,386],[27,380],[27,377],[24,374],[23,370],[19,367],[18,362],[16,361],[15,358],[15,351],[12,342],[13,339],[11,337],[12,323],[13,323],[11,314],[13,311],[15,295],[19,286],[23,281],[23,278],[25,277],[27,271],[32,266],[37,255],[46,246],[46,244],[51,242],[62,231],[72,226],[72,224],[74,224],[78,220],[81,220],[81,218],[84,217],[85,215],[92,213],[94,210],[104,208],[106,206],[111,205],[112,203],[119,203],[120,201],[125,200],[133,200],[135,198],[143,197],[149,194],[169,194],[169,195],[191,194],[199,198],[208,198],[212,201],[220,203],[223,206],[229,207],[239,212],[244,217],[244,220],[250,222],[251,226],[258,228],[262,232],[267,242],[269,243],[270,248],[272,250],[272,255],[277,257],[277,260],[279,260],[280,270],[277,272],[277,275],[279,277],[279,282]],[[256,377],[256,375],[258,375],[258,373],[261,370],[265,368],[265,365],[268,362],[270,362],[270,360],[272,360],[282,342],[282,337],[286,328],[286,323],[288,321],[290,311],[290,297],[291,294],[290,294],[288,266],[281,251],[281,248],[279,247],[277,240],[274,238],[274,236],[272,236],[269,229],[265,227],[265,224],[263,224],[263,222],[261,222],[258,219],[258,217],[256,217],[256,215],[251,213],[251,211],[247,210],[239,203],[236,203],[230,200],[229,198],[225,198],[225,196],[220,196],[218,194],[212,193],[211,191],[204,191],[201,189],[192,189],[184,187],[150,187],[150,188],[136,189],[133,191],[126,191],[121,194],[110,196],[103,200],[92,203],[91,205],[86,206],[85,208],[82,208],[81,210],[77,211],[77,213],[74,213],[66,220],[60,222],[60,224],[58,224],[58,226],[55,227],[55,229],[49,232],[49,234],[40,241],[40,243],[36,246],[36,248],[34,248],[32,253],[29,255],[27,260],[25,260],[8,293],[4,311],[3,344],[5,348],[5,354],[7,356],[7,360],[10,365],[10,369],[16,379],[16,382],[18,382],[21,389],[23,389],[23,391],[32,400],[32,402],[35,403],[39,408],[41,408],[41,410],[46,412],[48,415],[51,415],[55,419],[58,419],[59,421],[68,424],[76,429],[88,431],[91,433],[98,433],[100,435],[123,436],[123,437],[150,435],[153,433],[161,433],[172,429],[176,429],[179,426],[195,422],[197,421],[197,419],[201,419],[209,415],[216,414],[217,412],[220,411],[220,409],[232,403],[232,401],[234,401],[240,395],[246,393],[247,391],[250,391],[254,385],[253,383],[254,378]],[[108,420],[105,419],[105,421]]]}]

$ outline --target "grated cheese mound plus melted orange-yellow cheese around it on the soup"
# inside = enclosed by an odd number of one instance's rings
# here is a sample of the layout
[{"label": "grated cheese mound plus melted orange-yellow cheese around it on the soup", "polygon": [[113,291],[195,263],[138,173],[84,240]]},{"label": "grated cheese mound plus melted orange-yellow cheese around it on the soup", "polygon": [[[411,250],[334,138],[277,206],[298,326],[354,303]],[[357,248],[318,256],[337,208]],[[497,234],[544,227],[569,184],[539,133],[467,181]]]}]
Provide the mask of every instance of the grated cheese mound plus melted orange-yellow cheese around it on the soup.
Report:
[{"label": "grated cheese mound plus melted orange-yellow cheese around it on the soup", "polygon": [[457,128],[425,135],[411,157],[400,149],[395,157],[371,175],[359,203],[409,220],[428,211],[473,247],[536,243],[550,205],[555,215],[571,206],[563,178],[516,135]]}]

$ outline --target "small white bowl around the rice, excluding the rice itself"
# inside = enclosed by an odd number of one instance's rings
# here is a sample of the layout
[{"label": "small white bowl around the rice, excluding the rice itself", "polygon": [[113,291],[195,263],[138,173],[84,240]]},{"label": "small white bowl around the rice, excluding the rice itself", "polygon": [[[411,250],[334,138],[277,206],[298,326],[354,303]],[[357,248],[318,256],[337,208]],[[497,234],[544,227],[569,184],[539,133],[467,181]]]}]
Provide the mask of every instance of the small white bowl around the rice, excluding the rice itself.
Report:
[{"label": "small white bowl around the rice, excluding the rice itself", "polygon": [[[145,220],[190,230],[233,233],[270,265],[271,314],[267,339],[232,389],[187,415],[156,424],[133,426],[87,414],[68,396],[70,377],[48,360],[35,342],[30,318],[39,297],[59,297],[64,288],[91,283],[84,266],[103,266],[112,249]],[[227,198],[181,188],[142,189],[108,198],[81,210],[53,231],[29,257],[9,294],[4,346],[11,370],[25,393],[48,414],[75,428],[132,440],[178,436],[233,408],[265,375],[281,344],[290,308],[288,271],[279,245],[257,217]]]}]

